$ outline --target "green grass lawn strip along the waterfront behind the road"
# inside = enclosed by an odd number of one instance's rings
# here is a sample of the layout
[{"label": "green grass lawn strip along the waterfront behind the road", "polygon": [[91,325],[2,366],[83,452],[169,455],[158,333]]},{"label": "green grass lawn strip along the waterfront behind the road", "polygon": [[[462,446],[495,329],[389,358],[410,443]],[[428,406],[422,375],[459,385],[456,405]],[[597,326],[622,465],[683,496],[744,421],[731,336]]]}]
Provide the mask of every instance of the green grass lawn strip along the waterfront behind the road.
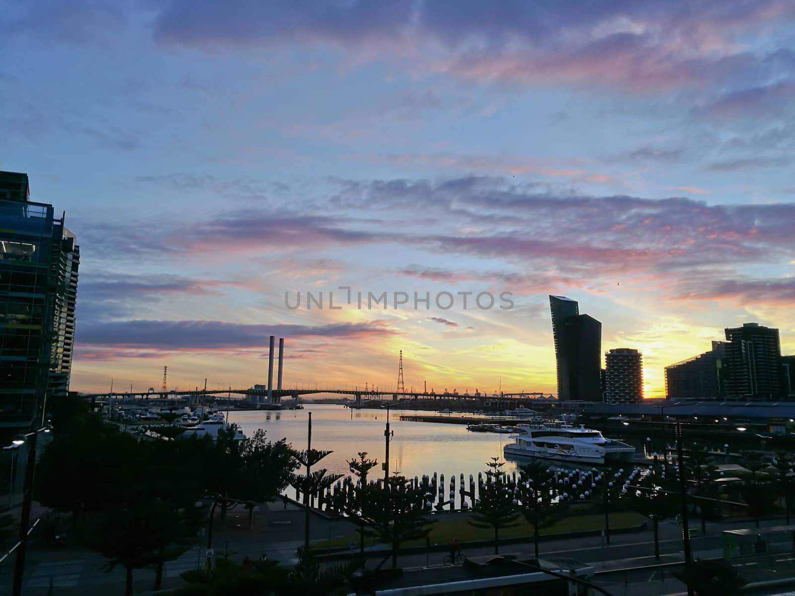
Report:
[{"label": "green grass lawn strip along the waterfront behind the road", "polygon": [[[520,518],[520,523],[514,528],[504,528],[500,530],[500,538],[518,538],[521,536],[532,536],[533,528],[527,524],[524,519]],[[629,528],[630,526],[642,524],[646,521],[640,513],[632,511],[622,511],[619,513],[611,513],[610,527],[611,529]],[[556,521],[554,525],[549,528],[542,528],[541,534],[560,534],[564,532],[581,532],[584,530],[601,530],[604,528],[604,516],[601,513],[591,513],[588,515],[578,515],[573,517],[563,517]],[[453,538],[457,538],[459,542],[469,542],[470,540],[493,540],[494,530],[475,528],[467,523],[467,518],[457,517],[456,519],[441,518],[431,526],[431,533],[429,538],[431,544],[448,544]],[[347,547],[355,542],[359,544],[359,534],[349,534],[348,536],[338,536],[332,540],[322,540],[320,542],[313,542],[312,546],[315,548],[333,548],[333,547]],[[368,538],[365,539],[365,544],[375,544],[375,540]],[[414,540],[413,542],[406,542],[402,546],[422,546],[425,540]]]}]

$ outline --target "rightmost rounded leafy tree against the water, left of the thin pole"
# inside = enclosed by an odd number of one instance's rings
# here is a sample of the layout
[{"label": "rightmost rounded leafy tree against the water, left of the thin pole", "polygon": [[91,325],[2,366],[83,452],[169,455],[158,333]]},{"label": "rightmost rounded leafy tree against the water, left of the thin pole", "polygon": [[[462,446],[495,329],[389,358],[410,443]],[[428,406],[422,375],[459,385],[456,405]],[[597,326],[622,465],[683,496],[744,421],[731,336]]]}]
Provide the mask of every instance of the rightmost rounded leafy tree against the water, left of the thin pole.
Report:
[{"label": "rightmost rounded leafy tree against the water, left of the thin pole", "polygon": [[295,452],[286,439],[275,443],[266,440],[266,432],[258,428],[242,444],[242,470],[235,497],[248,501],[249,524],[253,527],[254,504],[272,501],[285,490],[298,467]]}]

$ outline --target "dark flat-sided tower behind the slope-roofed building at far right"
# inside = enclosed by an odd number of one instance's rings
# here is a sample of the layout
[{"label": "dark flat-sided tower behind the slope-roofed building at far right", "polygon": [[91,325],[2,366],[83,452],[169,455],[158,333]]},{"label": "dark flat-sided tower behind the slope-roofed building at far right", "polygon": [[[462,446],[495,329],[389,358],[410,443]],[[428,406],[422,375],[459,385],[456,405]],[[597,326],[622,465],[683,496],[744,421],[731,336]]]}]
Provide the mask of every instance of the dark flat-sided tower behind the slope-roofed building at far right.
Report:
[{"label": "dark flat-sided tower behind the slope-roofed building at far right", "polygon": [[778,329],[758,323],[726,330],[727,383],[730,400],[781,398],[781,343]]}]

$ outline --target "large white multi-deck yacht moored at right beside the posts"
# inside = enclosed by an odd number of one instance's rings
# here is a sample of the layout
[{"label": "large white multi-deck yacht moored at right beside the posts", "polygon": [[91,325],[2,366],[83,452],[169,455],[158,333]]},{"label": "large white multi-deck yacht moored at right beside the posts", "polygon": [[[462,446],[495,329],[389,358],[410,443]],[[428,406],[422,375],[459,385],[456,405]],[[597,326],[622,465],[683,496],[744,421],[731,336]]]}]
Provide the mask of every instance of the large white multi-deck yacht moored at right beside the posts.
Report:
[{"label": "large white multi-deck yacht moored at right beside the posts", "polygon": [[635,448],[631,445],[606,439],[601,432],[582,425],[519,424],[510,438],[514,443],[503,448],[506,456],[609,465],[631,462],[635,455]]}]

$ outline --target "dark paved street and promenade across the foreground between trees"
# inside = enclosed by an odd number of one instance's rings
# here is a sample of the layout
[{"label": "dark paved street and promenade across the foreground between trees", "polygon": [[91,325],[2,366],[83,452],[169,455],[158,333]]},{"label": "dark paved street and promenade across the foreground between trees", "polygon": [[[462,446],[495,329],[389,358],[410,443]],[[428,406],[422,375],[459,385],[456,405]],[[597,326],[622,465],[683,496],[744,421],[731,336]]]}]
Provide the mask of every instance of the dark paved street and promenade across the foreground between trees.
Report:
[{"label": "dark paved street and promenade across the foreground between trees", "polygon": [[[255,521],[254,530],[251,530],[248,527],[246,513],[236,511],[229,513],[224,528],[219,528],[219,525],[216,525],[213,544],[215,555],[219,555],[225,548],[229,548],[233,558],[237,560],[242,560],[246,556],[258,559],[265,553],[270,559],[280,559],[286,564],[295,563],[297,561],[296,548],[303,544],[301,540],[304,527],[303,510],[293,504],[284,509],[281,503],[272,503],[270,506],[264,506],[262,512],[255,516]],[[462,523],[465,523],[463,518]],[[767,522],[771,525],[779,523],[778,520]],[[708,524],[708,535],[696,537],[693,540],[694,555],[701,557],[722,555],[720,532],[724,529],[750,527],[750,525],[748,522]],[[312,540],[324,540],[335,536],[347,536],[354,531],[354,527],[345,521],[328,520],[313,515],[310,530]],[[661,561],[681,560],[681,526],[661,524],[660,534]],[[200,540],[199,546],[186,552],[176,561],[165,565],[164,588],[182,585],[183,582],[179,578],[182,571],[204,565],[205,549],[207,548],[206,534],[201,536]],[[491,547],[467,548],[464,546],[463,550],[467,555],[486,555],[493,552]],[[502,552],[533,552],[533,546],[529,543],[506,544],[502,545],[500,550]],[[444,554],[444,552],[435,551],[428,554],[422,552],[400,555],[398,564],[402,567],[438,565]],[[640,590],[644,596],[681,592],[681,582],[672,579],[668,572],[662,575],[659,571],[653,573],[648,570],[619,574],[604,573],[616,568],[638,567],[655,563],[653,537],[650,530],[613,536],[609,545],[603,544],[599,537],[542,542],[541,557],[544,555],[560,555],[584,563],[591,563],[598,572],[596,581],[604,586],[611,586],[609,590],[615,596],[638,594],[641,593]],[[380,559],[382,556],[371,560],[369,565],[373,566]],[[119,594],[124,583],[124,571],[117,567],[113,571],[105,572],[102,569],[105,563],[103,557],[90,551],[78,548],[52,550],[42,548],[41,544],[34,541],[29,549],[23,594],[45,596],[48,594],[50,582],[56,588],[54,594],[58,596],[77,596],[77,594],[87,594],[89,591],[91,596]],[[13,560],[6,562],[0,569],[0,596],[10,594],[13,569]],[[135,591],[143,593],[151,590],[153,579],[152,570],[135,571]],[[630,589],[632,586],[634,586],[634,591]],[[778,594],[778,592],[768,592],[768,594]]]}]

